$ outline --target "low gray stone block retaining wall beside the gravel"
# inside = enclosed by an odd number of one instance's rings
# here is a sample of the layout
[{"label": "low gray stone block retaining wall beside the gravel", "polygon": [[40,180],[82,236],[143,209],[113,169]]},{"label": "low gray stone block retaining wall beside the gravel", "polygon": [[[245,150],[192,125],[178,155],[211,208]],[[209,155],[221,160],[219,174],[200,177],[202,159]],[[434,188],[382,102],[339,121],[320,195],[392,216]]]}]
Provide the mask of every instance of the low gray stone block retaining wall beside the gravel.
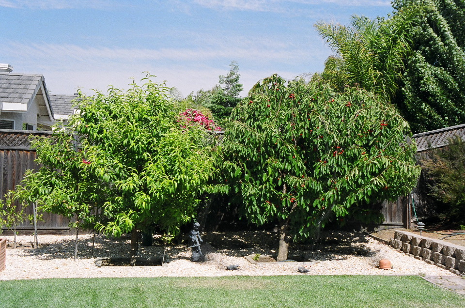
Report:
[{"label": "low gray stone block retaining wall beside the gravel", "polygon": [[465,274],[465,247],[406,231],[395,231],[390,246],[450,272]]}]

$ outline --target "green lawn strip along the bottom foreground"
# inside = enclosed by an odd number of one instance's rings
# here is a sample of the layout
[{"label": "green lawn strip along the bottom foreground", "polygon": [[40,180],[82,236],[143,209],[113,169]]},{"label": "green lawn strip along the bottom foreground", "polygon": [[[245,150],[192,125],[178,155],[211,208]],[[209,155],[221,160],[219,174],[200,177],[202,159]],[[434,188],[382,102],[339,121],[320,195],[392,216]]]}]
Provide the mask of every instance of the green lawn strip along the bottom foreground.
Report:
[{"label": "green lawn strip along the bottom foreground", "polygon": [[0,307],[465,307],[418,276],[73,278],[0,281]]}]

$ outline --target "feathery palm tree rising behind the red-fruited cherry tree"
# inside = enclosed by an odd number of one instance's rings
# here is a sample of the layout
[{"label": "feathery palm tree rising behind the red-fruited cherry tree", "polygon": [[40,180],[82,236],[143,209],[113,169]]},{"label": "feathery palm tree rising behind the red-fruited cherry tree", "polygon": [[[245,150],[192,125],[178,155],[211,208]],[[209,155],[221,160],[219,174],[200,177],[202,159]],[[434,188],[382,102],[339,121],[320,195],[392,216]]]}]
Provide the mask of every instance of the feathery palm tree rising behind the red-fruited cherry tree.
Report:
[{"label": "feathery palm tree rising behind the red-fruited cherry tree", "polygon": [[411,52],[410,30],[419,12],[419,7],[412,5],[390,18],[352,16],[350,26],[317,23],[320,35],[342,60],[330,57],[322,77],[339,88],[341,83],[356,85],[391,100]]}]

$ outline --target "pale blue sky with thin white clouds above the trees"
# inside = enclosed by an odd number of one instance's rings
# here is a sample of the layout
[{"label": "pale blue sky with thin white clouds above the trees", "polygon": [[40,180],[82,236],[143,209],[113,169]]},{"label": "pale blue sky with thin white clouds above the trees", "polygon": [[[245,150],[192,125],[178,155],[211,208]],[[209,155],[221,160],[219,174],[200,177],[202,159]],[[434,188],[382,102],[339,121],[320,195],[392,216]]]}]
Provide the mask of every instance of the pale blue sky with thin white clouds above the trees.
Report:
[{"label": "pale blue sky with thin white clouds above the trees", "polygon": [[334,52],[315,23],[391,11],[389,0],[0,0],[0,63],[44,75],[52,94],[127,89],[150,72],[186,97],[236,61],[247,96],[272,74],[323,70]]}]

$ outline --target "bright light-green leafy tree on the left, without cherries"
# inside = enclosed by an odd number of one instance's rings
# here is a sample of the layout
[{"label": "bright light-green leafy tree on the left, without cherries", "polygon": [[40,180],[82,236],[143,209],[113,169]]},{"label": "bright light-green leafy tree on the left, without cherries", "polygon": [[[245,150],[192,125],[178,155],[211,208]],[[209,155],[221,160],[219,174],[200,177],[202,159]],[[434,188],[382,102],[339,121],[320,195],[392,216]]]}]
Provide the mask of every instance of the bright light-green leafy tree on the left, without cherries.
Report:
[{"label": "bright light-green leafy tree on the left, without cherries", "polygon": [[32,140],[42,167],[17,189],[44,211],[76,217],[76,227],[132,232],[132,264],[139,230],[175,233],[193,218],[215,159],[204,127],[182,127],[169,89],[143,80],[81,96],[68,124]]}]

